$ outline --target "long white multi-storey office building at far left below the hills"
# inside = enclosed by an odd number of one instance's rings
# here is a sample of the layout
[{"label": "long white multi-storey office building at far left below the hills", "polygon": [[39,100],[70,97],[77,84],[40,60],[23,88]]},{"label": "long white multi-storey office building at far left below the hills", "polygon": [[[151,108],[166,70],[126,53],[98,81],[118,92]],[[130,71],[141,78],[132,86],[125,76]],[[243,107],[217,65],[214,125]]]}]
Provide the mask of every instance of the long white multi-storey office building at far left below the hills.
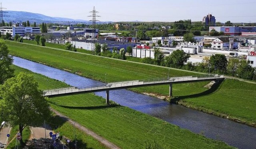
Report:
[{"label": "long white multi-storey office building at far left below the hills", "polygon": [[12,26],[12,27],[2,27],[1,29],[1,33],[2,35],[6,35],[6,33],[9,33],[12,35],[12,37],[14,38],[14,36],[16,34],[19,34],[20,36],[24,37],[24,35],[26,33],[40,33],[40,27],[24,27],[24,26]]}]

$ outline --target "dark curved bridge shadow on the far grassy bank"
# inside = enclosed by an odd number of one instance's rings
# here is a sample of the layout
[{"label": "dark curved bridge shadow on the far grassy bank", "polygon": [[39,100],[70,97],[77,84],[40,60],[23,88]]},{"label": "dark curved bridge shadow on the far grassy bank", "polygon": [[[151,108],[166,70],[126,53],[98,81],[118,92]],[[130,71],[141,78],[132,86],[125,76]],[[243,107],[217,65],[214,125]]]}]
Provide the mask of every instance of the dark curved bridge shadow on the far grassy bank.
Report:
[{"label": "dark curved bridge shadow on the far grassy bank", "polygon": [[172,98],[170,102],[177,104],[180,100],[183,100],[186,98],[196,98],[196,97],[200,97],[200,96],[210,95],[213,92],[215,92],[216,90],[218,90],[218,88],[220,87],[220,84],[222,84],[223,80],[224,79],[216,81],[216,83],[214,85],[212,85],[212,87],[209,90],[206,90],[206,91],[198,93],[198,94],[192,94],[192,95],[187,95],[187,96],[176,96],[176,97]]}]

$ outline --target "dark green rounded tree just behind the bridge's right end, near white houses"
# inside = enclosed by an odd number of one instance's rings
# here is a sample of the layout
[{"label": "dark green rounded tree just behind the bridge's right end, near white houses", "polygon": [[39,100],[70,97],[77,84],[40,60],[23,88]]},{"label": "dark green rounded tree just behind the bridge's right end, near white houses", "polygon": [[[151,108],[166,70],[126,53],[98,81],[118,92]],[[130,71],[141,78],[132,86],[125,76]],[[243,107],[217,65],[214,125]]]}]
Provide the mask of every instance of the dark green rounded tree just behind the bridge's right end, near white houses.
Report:
[{"label": "dark green rounded tree just behind the bridge's right end, near white houses", "polygon": [[215,54],[210,57],[210,65],[218,73],[226,73],[228,60],[224,54]]}]

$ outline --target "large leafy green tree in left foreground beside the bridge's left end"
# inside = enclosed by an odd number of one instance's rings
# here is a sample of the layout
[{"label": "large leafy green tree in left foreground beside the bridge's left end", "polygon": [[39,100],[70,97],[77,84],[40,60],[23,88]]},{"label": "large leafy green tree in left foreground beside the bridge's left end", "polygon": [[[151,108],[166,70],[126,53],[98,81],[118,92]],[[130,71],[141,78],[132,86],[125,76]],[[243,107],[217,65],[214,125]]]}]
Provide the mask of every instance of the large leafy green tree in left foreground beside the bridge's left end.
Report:
[{"label": "large leafy green tree in left foreground beside the bridge's left end", "polygon": [[[27,126],[40,126],[51,115],[50,106],[31,74],[20,73],[0,85],[1,119],[19,126],[20,135]],[[23,144],[23,140],[20,140]]]}]

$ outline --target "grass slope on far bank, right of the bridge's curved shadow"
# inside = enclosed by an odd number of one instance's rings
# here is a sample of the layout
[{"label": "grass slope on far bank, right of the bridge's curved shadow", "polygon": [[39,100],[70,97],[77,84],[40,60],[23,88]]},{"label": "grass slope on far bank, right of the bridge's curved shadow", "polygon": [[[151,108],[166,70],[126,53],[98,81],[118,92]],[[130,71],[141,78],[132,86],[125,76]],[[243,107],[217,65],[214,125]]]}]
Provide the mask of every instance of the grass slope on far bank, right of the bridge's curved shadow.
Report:
[{"label": "grass slope on far bank, right of the bridge's curved shadow", "polygon": [[256,85],[226,79],[213,94],[181,96],[180,104],[256,126]]}]

